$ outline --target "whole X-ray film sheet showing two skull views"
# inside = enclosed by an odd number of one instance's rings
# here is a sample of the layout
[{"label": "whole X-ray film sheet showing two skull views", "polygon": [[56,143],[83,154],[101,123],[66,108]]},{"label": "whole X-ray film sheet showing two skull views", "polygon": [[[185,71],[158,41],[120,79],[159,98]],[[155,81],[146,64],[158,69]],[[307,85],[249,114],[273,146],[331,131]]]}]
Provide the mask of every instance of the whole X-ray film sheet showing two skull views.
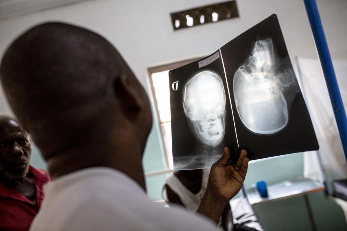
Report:
[{"label": "whole X-ray film sheet showing two skull views", "polygon": [[319,148],[276,15],[171,70],[169,83],[177,170],[211,167],[224,146],[250,160]]}]

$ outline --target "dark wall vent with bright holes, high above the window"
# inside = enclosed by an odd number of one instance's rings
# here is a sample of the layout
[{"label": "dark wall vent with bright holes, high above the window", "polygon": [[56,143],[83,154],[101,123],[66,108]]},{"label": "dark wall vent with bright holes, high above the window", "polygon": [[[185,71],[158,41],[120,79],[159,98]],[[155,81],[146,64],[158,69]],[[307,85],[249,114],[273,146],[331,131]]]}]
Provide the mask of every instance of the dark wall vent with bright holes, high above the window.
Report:
[{"label": "dark wall vent with bright holes, high above the window", "polygon": [[238,17],[236,1],[227,1],[171,13],[174,30]]}]

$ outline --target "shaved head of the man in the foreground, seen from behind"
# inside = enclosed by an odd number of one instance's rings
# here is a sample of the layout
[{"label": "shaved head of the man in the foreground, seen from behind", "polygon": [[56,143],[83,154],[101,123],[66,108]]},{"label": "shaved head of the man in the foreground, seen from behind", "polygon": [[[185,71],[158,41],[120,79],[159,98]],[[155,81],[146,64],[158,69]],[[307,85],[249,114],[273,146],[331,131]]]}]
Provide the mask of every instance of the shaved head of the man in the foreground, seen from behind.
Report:
[{"label": "shaved head of the man in the foreground, seen from behind", "polygon": [[111,133],[119,116],[131,119],[134,130],[142,124],[139,139],[147,139],[152,122],[144,89],[117,50],[89,30],[62,23],[28,30],[3,56],[0,77],[45,158],[100,127]]}]

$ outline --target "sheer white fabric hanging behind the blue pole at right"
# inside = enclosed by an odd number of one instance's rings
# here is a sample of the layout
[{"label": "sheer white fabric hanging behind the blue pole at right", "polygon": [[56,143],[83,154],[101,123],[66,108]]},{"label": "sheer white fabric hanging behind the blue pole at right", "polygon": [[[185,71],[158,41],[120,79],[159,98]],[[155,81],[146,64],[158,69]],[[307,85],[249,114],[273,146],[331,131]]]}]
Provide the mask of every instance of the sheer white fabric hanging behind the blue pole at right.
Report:
[{"label": "sheer white fabric hanging behind the blue pole at right", "polygon": [[[318,59],[298,58],[301,88],[318,139],[318,151],[326,180],[347,178],[347,163],[333,113],[329,92]],[[334,60],[342,101],[347,109],[347,59]],[[304,176],[322,181],[316,152],[304,153]]]}]

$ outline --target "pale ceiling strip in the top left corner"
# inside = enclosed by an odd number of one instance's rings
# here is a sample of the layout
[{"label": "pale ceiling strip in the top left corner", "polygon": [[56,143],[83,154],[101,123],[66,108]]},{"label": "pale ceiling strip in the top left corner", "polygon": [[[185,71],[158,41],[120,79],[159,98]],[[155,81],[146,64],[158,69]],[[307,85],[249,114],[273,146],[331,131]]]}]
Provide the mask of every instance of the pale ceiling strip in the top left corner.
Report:
[{"label": "pale ceiling strip in the top left corner", "polygon": [[0,0],[0,20],[87,0]]}]

